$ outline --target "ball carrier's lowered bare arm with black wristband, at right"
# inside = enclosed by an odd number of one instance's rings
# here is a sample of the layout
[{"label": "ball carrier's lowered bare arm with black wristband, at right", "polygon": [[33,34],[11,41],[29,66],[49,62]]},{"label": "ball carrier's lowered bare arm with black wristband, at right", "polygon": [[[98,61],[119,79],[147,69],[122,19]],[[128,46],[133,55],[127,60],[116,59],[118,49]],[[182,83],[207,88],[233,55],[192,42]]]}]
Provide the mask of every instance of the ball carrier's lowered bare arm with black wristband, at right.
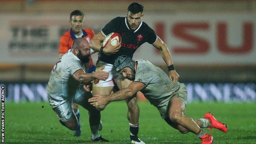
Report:
[{"label": "ball carrier's lowered bare arm with black wristband, at right", "polygon": [[162,41],[162,39],[160,39],[160,37],[157,36],[155,43],[152,45],[160,51],[162,59],[164,59],[165,63],[167,64],[169,70],[169,78],[172,79],[174,83],[178,82],[180,75],[178,75],[174,69],[171,54],[166,44]]}]

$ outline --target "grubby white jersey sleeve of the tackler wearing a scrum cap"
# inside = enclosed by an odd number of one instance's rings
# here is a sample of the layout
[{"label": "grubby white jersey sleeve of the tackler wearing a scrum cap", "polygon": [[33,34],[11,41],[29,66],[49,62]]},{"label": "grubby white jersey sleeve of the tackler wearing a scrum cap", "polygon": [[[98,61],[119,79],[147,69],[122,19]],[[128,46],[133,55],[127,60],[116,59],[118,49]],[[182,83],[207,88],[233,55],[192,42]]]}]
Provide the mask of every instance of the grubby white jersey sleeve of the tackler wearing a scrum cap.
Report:
[{"label": "grubby white jersey sleeve of the tackler wearing a scrum cap", "polygon": [[142,82],[145,85],[148,85],[153,79],[152,73],[150,72],[139,72],[135,74],[135,82]]}]

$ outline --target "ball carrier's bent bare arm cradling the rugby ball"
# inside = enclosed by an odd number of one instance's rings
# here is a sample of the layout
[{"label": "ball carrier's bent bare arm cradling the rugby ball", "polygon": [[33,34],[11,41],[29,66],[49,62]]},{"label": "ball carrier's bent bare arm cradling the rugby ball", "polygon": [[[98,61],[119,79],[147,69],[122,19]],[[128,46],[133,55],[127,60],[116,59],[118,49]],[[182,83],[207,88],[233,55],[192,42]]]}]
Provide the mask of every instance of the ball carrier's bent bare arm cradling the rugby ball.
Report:
[{"label": "ball carrier's bent bare arm cradling the rugby ball", "polygon": [[121,41],[116,46],[112,46],[110,42],[111,39],[108,40],[107,46],[103,48],[101,43],[103,42],[104,39],[105,37],[103,36],[103,34],[99,32],[98,34],[96,34],[96,36],[93,39],[91,39],[89,43],[90,48],[98,53],[103,53],[105,55],[115,54],[121,48]]}]

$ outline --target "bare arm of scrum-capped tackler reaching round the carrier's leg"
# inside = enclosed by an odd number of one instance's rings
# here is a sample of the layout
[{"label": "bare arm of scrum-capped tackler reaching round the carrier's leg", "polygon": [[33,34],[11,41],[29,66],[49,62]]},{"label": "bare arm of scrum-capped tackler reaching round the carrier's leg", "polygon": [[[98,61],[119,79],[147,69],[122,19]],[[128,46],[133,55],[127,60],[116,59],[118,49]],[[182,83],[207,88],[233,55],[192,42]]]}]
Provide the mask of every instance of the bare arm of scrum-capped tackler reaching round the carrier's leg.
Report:
[{"label": "bare arm of scrum-capped tackler reaching round the carrier's leg", "polygon": [[89,102],[93,106],[105,105],[112,101],[121,101],[126,98],[132,97],[135,93],[140,91],[145,87],[145,84],[142,82],[132,82],[127,88],[121,89],[116,93],[110,94],[108,96],[96,95],[92,98],[89,98]]}]

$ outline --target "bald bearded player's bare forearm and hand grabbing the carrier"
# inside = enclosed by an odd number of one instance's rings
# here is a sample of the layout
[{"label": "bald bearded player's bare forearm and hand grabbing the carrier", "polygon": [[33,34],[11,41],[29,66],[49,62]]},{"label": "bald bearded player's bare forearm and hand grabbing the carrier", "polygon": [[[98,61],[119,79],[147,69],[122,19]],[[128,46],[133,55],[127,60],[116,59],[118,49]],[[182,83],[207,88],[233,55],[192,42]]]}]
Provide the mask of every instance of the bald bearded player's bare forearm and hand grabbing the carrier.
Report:
[{"label": "bald bearded player's bare forearm and hand grabbing the carrier", "polygon": [[85,73],[82,69],[79,69],[73,73],[73,78],[82,84],[89,84],[91,81],[98,80],[107,80],[109,73],[102,71],[104,67],[101,67],[100,71],[96,71],[94,73]]}]

